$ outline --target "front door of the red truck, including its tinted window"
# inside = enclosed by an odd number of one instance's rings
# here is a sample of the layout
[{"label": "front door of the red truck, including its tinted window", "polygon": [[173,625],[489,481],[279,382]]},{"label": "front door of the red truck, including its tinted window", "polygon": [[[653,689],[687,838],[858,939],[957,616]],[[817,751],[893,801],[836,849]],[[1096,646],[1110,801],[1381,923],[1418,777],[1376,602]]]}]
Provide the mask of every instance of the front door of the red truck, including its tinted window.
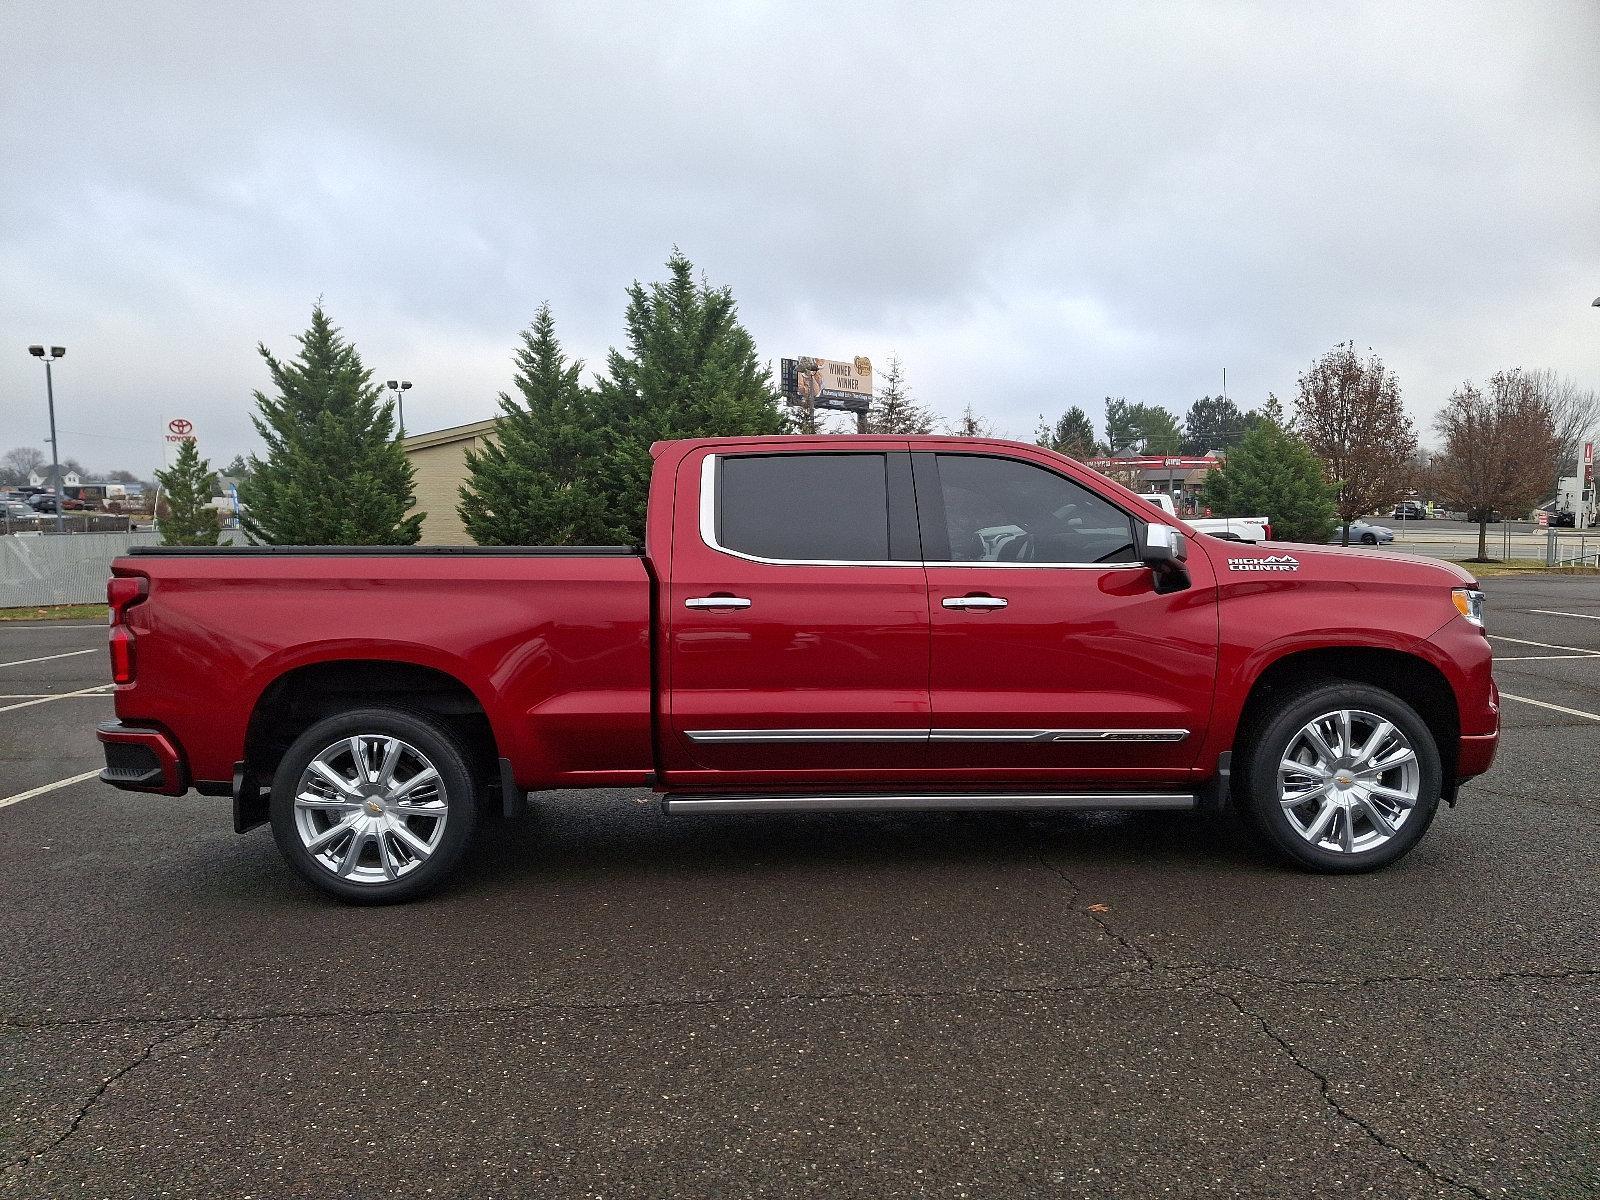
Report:
[{"label": "front door of the red truck, including its tinted window", "polygon": [[1211,710],[1216,589],[1157,592],[1139,520],[1059,464],[917,453],[936,770],[994,779],[1181,776]]}]

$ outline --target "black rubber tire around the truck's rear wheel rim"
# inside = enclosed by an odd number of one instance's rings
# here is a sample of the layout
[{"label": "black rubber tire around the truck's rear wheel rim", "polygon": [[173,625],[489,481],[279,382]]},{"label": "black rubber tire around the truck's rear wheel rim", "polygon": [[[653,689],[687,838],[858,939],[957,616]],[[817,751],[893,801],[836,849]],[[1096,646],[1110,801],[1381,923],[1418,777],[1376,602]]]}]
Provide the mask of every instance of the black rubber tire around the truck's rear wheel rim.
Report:
[{"label": "black rubber tire around the truck's rear wheel rim", "polygon": [[[395,738],[414,747],[438,773],[440,790],[448,805],[448,816],[443,819],[443,829],[438,830],[432,853],[410,866],[398,878],[384,882],[341,878],[307,850],[296,824],[294,797],[301,774],[318,754],[357,734]],[[283,755],[272,778],[272,837],[278,843],[278,851],[301,878],[320,891],[349,904],[395,904],[424,896],[454,870],[478,822],[477,790],[474,773],[467,765],[467,754],[450,728],[419,712],[382,707],[355,709],[317,722],[296,738],[288,754]],[[430,826],[430,819],[422,821],[422,829]],[[378,851],[374,843],[370,851],[358,851],[357,858],[365,859],[368,853],[376,856]]]}]

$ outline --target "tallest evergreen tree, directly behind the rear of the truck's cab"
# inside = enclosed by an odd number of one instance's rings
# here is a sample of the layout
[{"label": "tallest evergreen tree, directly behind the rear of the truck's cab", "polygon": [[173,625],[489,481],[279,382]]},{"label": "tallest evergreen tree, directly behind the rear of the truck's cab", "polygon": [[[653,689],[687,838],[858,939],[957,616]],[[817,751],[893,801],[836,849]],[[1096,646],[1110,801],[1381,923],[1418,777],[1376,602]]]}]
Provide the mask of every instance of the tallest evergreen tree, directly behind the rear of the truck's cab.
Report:
[{"label": "tallest evergreen tree, directly behind the rear of the truck's cab", "polygon": [[627,290],[626,322],[627,352],[611,350],[597,381],[605,462],[595,483],[614,536],[642,541],[651,442],[781,434],[787,422],[733,293],[696,283],[678,250],[664,283]]}]

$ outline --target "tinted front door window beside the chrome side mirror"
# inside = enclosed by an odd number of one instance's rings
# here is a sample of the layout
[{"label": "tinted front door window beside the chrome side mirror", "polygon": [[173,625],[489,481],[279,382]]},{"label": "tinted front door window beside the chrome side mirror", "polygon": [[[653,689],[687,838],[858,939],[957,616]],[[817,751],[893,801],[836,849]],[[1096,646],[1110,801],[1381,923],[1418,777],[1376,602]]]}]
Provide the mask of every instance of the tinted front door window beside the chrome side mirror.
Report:
[{"label": "tinted front door window beside the chrome side mirror", "polygon": [[939,454],[938,462],[949,562],[1126,563],[1138,558],[1133,518],[1064,475],[1003,458]]}]

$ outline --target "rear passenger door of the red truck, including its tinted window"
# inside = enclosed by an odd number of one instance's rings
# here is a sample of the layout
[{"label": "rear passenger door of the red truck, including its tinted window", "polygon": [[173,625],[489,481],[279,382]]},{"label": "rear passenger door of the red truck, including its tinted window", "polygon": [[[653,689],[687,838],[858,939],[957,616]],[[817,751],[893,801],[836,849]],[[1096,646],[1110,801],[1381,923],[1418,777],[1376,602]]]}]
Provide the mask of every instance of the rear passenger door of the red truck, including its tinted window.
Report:
[{"label": "rear passenger door of the red truck, including its tinted window", "polygon": [[717,446],[680,466],[662,614],[662,757],[680,781],[926,770],[910,456],[904,442],[862,443]]}]

